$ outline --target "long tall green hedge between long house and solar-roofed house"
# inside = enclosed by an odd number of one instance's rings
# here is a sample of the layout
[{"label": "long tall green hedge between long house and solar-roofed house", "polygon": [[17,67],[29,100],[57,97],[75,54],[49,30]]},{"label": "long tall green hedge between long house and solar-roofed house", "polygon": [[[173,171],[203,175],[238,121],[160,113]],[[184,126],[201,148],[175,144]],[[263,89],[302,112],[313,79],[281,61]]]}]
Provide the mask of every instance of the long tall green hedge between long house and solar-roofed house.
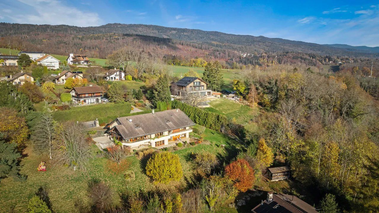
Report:
[{"label": "long tall green hedge between long house and solar-roofed house", "polygon": [[224,115],[210,113],[201,110],[200,108],[192,107],[186,103],[182,103],[178,100],[174,100],[171,102],[171,108],[179,108],[196,124],[205,126],[216,131],[220,131],[221,128],[225,127],[227,124],[227,118]]}]

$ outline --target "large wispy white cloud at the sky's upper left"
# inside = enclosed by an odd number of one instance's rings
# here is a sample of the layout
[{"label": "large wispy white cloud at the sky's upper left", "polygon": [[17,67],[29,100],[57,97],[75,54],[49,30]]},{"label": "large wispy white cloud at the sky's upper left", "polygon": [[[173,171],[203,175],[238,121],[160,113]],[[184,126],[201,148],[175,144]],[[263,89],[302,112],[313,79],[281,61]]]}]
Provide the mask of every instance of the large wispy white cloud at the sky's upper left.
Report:
[{"label": "large wispy white cloud at the sky's upper left", "polygon": [[27,5],[20,14],[7,16],[16,23],[75,25],[78,27],[99,26],[102,20],[97,13],[81,11],[66,6],[59,0],[18,0]]}]

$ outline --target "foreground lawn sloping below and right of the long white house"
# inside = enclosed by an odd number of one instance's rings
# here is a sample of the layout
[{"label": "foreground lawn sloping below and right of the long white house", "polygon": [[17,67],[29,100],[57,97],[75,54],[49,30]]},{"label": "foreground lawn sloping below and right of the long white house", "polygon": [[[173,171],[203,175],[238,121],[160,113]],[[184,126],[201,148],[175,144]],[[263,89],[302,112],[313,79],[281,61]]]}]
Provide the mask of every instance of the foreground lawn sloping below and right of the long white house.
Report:
[{"label": "foreground lawn sloping below and right of the long white house", "polygon": [[[174,153],[180,157],[180,162],[183,166],[184,177],[180,182],[174,182],[165,187],[172,185],[186,185],[193,180],[193,170],[195,166],[189,158],[189,155],[194,152],[211,152],[215,153],[223,162],[226,156],[235,156],[240,149],[240,145],[228,138],[222,133],[207,129],[204,133],[204,138],[210,142],[209,145],[199,144],[194,147],[186,147],[177,150]],[[220,144],[226,144],[225,148],[221,148]],[[92,146],[95,150],[97,147]],[[52,203],[52,208],[55,212],[68,213],[76,212],[75,201],[83,204],[88,203],[87,184],[92,178],[98,178],[109,184],[115,194],[126,189],[132,191],[148,191],[155,186],[150,179],[144,174],[141,168],[141,162],[135,157],[130,156],[127,161],[130,166],[125,170],[131,170],[135,173],[136,179],[132,182],[125,181],[123,174],[111,174],[107,171],[109,160],[106,158],[92,158],[86,170],[73,171],[72,168],[67,168],[60,165],[53,165],[49,161],[47,155],[37,154],[31,146],[26,149],[27,157],[22,160],[21,174],[28,175],[25,182],[16,181],[12,178],[3,179],[0,182],[0,212],[9,212],[9,209],[14,206],[15,212],[24,212],[28,205],[28,200],[34,195],[40,186],[44,186],[49,191],[49,197]],[[47,171],[38,172],[37,167],[41,161],[47,162]],[[117,197],[117,196],[115,196]],[[115,200],[119,202],[119,200]]]}]

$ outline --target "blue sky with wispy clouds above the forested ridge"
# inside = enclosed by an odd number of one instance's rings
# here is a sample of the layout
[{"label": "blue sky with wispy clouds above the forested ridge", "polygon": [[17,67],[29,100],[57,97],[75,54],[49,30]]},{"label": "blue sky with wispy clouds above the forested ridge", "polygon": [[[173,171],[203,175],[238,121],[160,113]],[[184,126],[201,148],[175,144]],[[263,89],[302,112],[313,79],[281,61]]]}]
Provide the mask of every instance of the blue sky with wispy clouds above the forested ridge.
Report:
[{"label": "blue sky with wispy clouds above the forested ridge", "polygon": [[143,23],[318,44],[379,46],[379,0],[2,0],[0,22]]}]

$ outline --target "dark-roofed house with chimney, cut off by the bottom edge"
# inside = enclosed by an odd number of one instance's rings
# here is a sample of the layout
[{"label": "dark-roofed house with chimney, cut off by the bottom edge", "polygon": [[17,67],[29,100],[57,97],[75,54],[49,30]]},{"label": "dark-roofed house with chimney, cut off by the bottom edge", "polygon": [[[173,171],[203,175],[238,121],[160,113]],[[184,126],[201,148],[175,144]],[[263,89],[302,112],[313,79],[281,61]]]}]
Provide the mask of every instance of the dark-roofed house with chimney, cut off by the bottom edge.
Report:
[{"label": "dark-roofed house with chimney, cut off by the bottom edge", "polygon": [[251,210],[254,213],[318,213],[316,208],[289,194],[267,193],[267,199]]}]

